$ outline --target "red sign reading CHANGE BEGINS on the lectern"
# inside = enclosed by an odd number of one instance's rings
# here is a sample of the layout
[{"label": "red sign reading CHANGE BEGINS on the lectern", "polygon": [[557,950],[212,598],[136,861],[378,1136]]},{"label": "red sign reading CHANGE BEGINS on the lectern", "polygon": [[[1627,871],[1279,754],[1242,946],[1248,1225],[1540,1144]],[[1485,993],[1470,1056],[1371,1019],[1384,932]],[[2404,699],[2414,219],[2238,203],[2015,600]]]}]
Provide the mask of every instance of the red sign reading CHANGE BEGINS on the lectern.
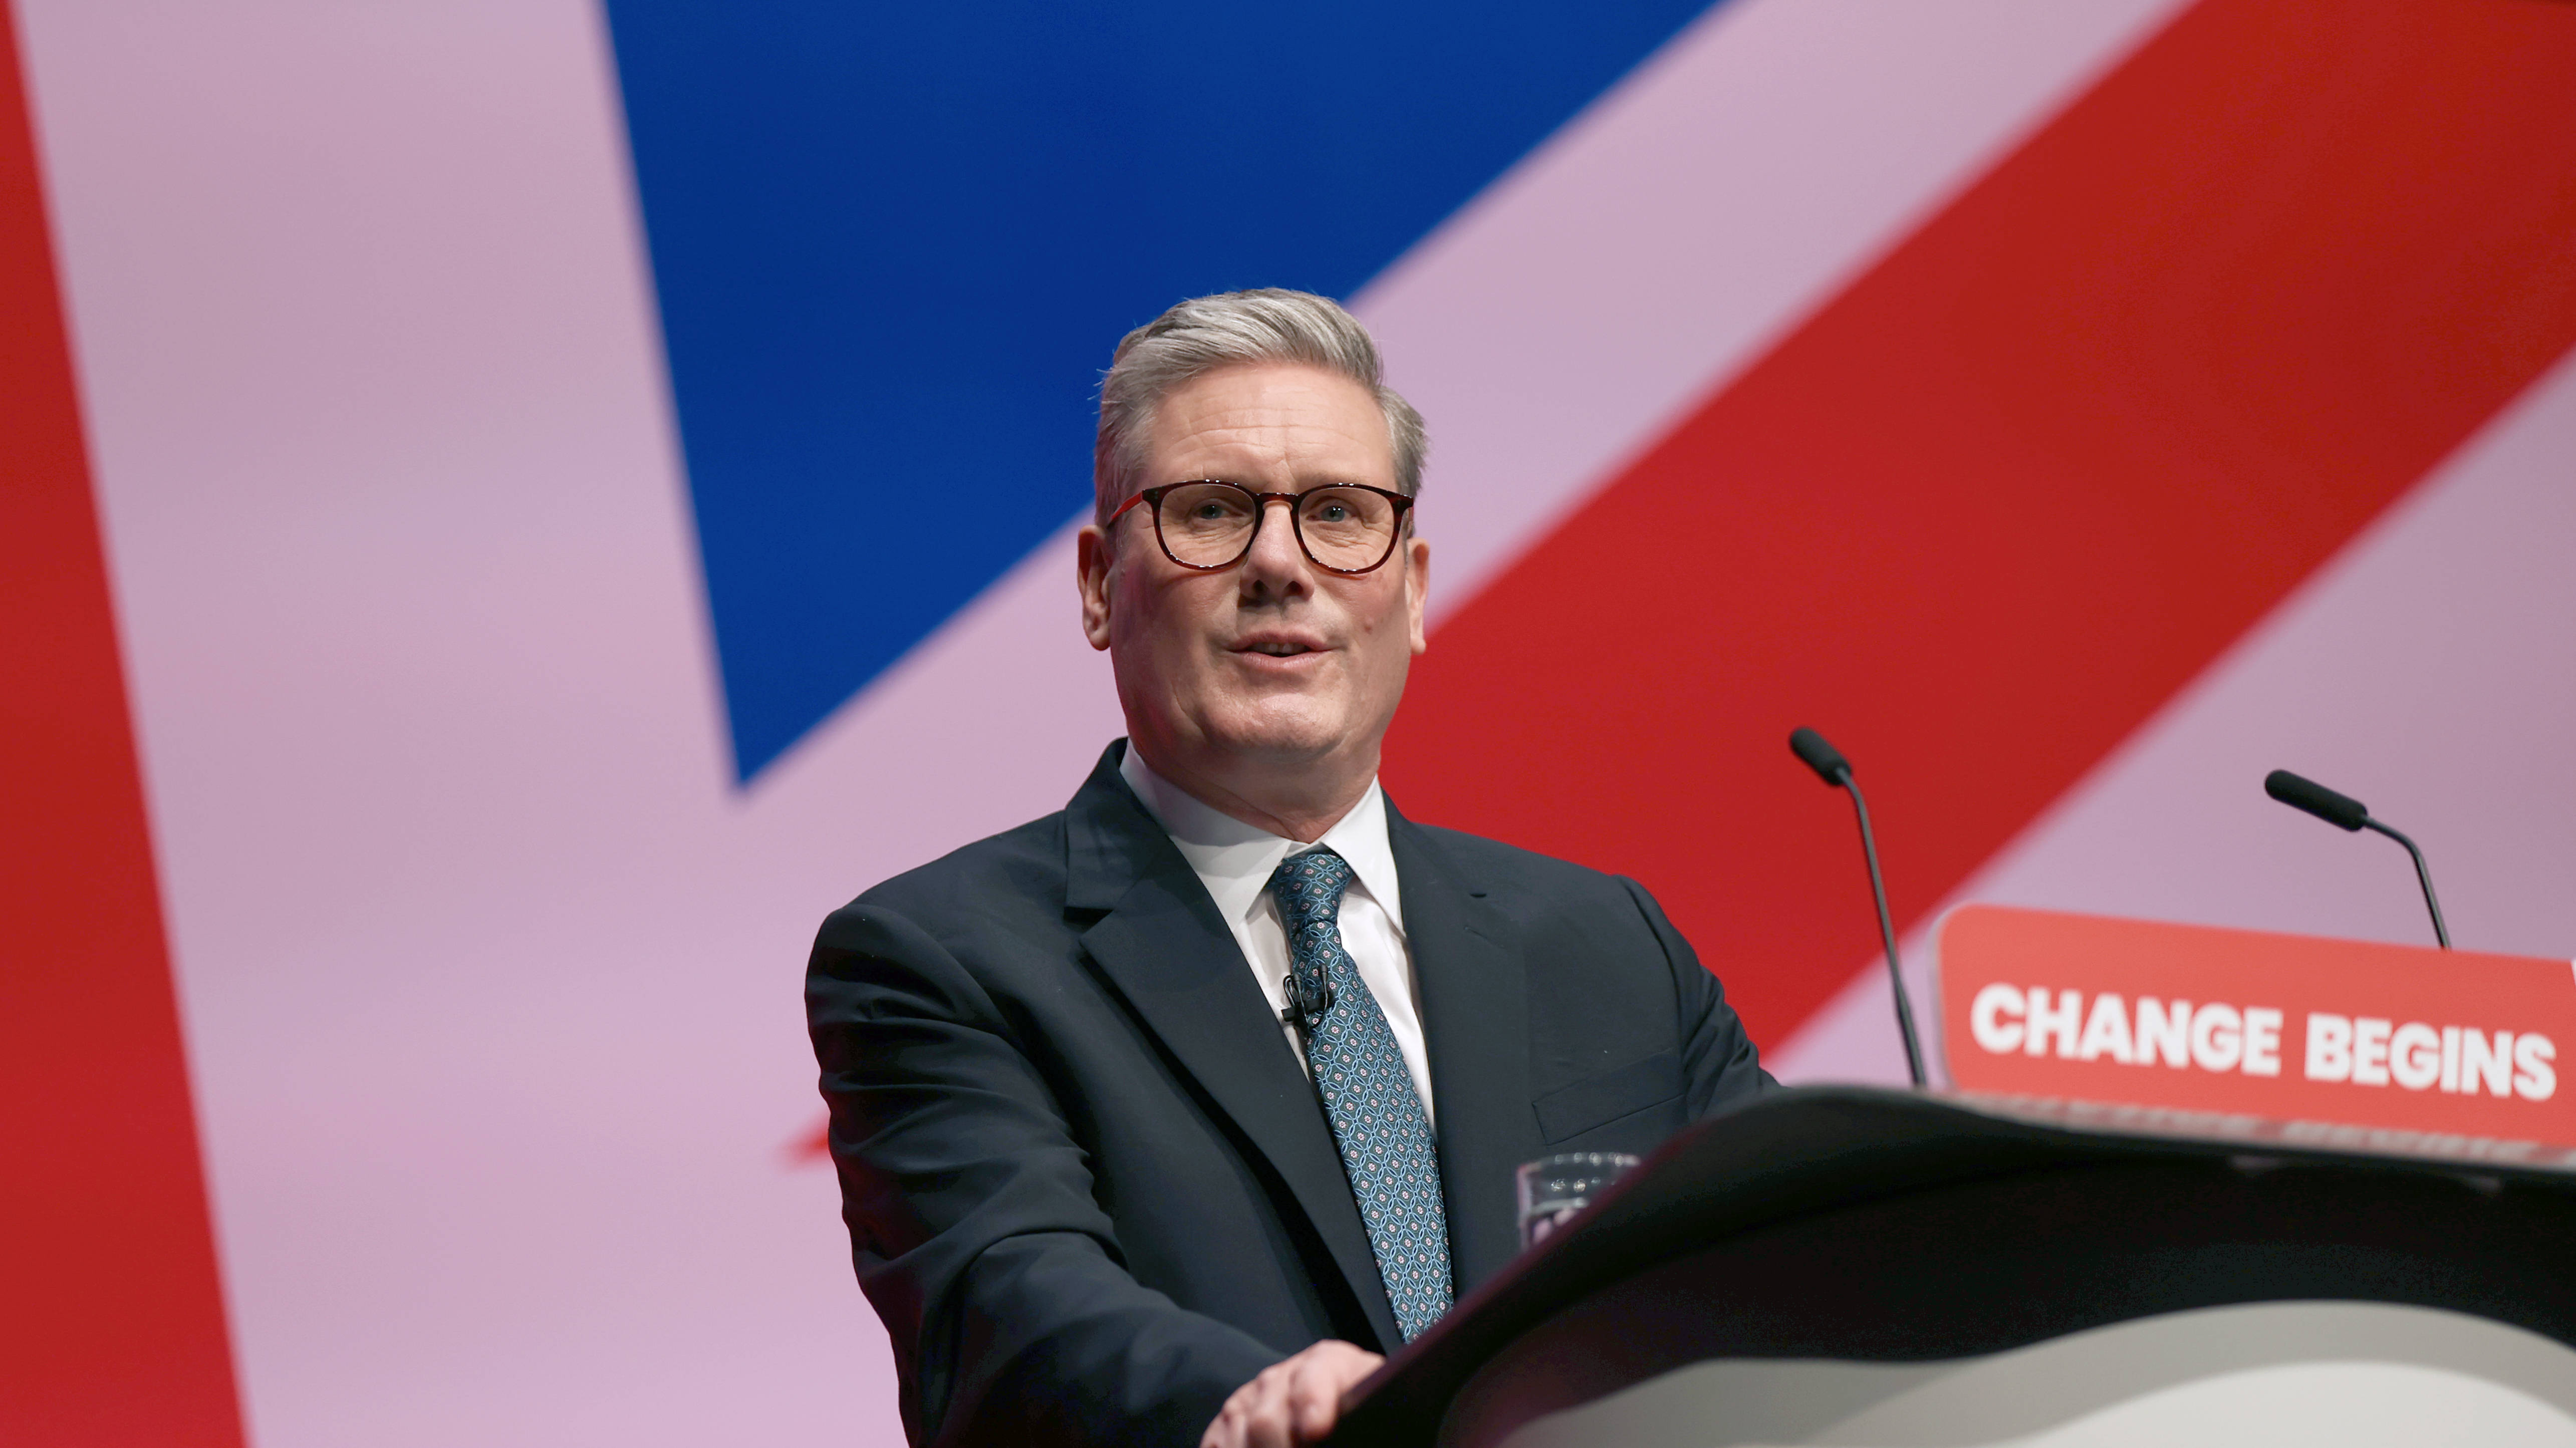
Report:
[{"label": "red sign reading CHANGE BEGINS on the lectern", "polygon": [[1965,1092],[2226,1113],[2318,1144],[2378,1129],[2460,1157],[2576,1147],[2571,961],[1999,904],[1953,910],[1935,940]]}]

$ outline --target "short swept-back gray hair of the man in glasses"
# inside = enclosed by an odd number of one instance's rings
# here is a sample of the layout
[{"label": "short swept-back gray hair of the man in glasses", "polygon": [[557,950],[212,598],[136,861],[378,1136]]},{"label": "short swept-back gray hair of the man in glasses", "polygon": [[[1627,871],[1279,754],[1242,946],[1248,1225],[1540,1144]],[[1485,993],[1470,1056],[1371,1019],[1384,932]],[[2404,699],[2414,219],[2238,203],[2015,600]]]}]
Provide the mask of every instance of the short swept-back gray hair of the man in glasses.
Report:
[{"label": "short swept-back gray hair of the man in glasses", "polygon": [[1381,381],[1368,327],[1329,296],[1265,286],[1193,296],[1118,343],[1100,376],[1100,438],[1092,443],[1092,510],[1103,526],[1144,472],[1154,407],[1177,386],[1247,363],[1303,363],[1365,386],[1396,446],[1396,492],[1422,492],[1430,438],[1414,405]]}]

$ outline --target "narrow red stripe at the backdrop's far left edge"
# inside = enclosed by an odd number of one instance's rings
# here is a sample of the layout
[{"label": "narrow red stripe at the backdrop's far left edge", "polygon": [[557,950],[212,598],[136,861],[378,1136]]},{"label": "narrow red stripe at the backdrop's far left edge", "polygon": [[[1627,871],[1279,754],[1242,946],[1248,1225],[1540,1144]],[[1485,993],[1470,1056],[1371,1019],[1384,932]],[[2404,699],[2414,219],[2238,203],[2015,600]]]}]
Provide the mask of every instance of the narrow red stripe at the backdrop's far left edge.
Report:
[{"label": "narrow red stripe at the backdrop's far left edge", "polygon": [[116,626],[0,8],[0,1443],[234,1448]]}]

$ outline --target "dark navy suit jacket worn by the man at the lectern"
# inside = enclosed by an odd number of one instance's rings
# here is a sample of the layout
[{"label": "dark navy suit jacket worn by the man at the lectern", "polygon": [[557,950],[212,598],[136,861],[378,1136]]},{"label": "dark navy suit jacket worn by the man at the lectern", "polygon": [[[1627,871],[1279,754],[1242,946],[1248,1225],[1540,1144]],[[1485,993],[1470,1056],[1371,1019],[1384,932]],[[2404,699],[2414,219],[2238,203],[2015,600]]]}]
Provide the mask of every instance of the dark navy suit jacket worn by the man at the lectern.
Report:
[{"label": "dark navy suit jacket worn by the man at the lectern", "polygon": [[[1321,1337],[1394,1350],[1342,1157],[1216,902],[1118,778],[822,925],[806,1018],[914,1443],[1195,1443]],[[1770,1085],[1654,899],[1386,809],[1458,1293],[1512,1167]]]}]

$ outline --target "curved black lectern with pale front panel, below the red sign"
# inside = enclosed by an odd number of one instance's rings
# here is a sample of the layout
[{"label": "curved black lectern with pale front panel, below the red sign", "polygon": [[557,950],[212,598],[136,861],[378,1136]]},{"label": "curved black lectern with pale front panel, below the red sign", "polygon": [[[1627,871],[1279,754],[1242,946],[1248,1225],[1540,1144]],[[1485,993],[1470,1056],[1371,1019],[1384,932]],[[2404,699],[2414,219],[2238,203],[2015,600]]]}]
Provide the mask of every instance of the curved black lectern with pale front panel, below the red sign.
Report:
[{"label": "curved black lectern with pale front panel, below the red sign", "polygon": [[[1486,1283],[1332,1443],[2004,1443],[2318,1363],[2576,1438],[2571,1345],[2566,1172],[1788,1090],[1674,1139]],[[2336,1381],[2316,1412],[2362,1412]]]}]

